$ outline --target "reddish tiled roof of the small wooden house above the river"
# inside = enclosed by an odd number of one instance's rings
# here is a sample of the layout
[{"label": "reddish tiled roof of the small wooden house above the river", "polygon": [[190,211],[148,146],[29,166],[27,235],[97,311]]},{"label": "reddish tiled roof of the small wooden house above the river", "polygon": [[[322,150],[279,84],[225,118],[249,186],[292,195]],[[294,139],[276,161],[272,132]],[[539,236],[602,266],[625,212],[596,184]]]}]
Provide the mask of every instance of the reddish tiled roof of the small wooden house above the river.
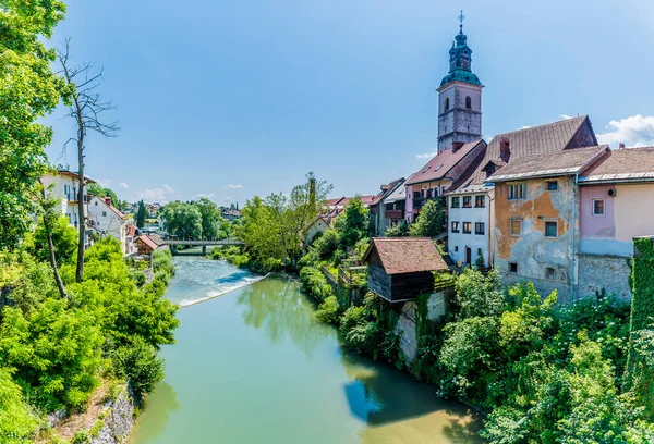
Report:
[{"label": "reddish tiled roof of the small wooden house above the river", "polygon": [[375,237],[365,252],[377,251],[387,274],[447,270],[447,263],[428,237]]}]

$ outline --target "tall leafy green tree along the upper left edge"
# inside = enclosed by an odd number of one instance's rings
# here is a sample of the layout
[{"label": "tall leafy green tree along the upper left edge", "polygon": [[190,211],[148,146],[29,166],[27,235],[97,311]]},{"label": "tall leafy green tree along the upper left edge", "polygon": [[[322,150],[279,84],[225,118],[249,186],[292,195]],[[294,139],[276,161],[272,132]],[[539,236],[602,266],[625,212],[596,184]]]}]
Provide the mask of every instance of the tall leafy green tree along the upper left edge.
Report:
[{"label": "tall leafy green tree along the upper left edge", "polygon": [[56,53],[44,41],[63,18],[57,0],[0,2],[0,248],[13,247],[29,229],[46,172],[52,130],[38,123],[63,87],[52,72]]}]

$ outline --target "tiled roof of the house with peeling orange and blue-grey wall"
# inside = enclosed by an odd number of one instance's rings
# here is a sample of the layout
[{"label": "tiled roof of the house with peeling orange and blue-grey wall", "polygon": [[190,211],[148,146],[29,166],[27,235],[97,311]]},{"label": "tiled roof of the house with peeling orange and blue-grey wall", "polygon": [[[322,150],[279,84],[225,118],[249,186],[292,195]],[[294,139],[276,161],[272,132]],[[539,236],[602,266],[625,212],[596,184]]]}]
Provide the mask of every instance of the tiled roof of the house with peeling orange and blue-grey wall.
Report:
[{"label": "tiled roof of the house with peeling orange and blue-grey wall", "polygon": [[550,156],[524,156],[499,169],[488,182],[519,181],[530,177],[573,175],[610,152],[608,145],[576,148]]}]

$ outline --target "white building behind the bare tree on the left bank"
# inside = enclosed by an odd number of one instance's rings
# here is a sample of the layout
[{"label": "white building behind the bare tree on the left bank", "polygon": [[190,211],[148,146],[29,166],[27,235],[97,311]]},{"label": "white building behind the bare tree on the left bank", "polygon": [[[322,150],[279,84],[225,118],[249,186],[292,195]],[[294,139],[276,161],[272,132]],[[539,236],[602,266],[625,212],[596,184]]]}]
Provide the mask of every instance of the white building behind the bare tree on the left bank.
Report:
[{"label": "white building behind the bare tree on the left bank", "polygon": [[[86,177],[86,184],[88,185],[89,183],[95,183],[95,181]],[[80,181],[77,178],[77,173],[59,170],[57,173],[49,173],[43,176],[41,184],[46,188],[46,195],[48,197],[55,196],[60,200],[57,210],[68,218],[71,226],[77,229],[82,219],[77,207],[80,201]],[[86,202],[85,212],[88,213],[88,195],[86,194],[86,188],[84,188],[83,199]],[[86,239],[84,240],[86,248],[90,245],[88,235],[86,235]]]}]

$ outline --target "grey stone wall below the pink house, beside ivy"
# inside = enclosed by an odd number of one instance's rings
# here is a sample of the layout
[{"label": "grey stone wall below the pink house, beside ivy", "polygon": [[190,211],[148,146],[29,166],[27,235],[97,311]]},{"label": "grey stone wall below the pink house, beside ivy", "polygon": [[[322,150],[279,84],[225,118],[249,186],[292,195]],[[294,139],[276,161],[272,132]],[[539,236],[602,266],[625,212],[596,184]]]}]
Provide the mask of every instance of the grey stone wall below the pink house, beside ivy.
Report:
[{"label": "grey stone wall below the pink house, beside ivy", "polygon": [[629,276],[631,267],[628,258],[578,255],[579,285],[577,297],[593,296],[595,292],[606,289],[620,298],[630,299]]}]

